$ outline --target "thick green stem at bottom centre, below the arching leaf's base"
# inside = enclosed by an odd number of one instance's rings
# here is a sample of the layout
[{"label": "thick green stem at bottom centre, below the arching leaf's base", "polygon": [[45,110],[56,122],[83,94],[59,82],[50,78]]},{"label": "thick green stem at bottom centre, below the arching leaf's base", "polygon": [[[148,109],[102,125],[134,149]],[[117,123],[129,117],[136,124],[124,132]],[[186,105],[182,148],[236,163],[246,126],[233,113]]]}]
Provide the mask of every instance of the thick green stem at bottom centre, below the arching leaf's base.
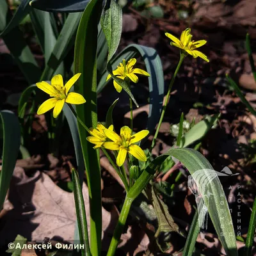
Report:
[{"label": "thick green stem at bottom centre, below the arching leaf's base", "polygon": [[127,220],[132,202],[133,202],[133,199],[130,198],[127,195],[126,198],[125,198],[125,201],[124,201],[124,205],[122,207],[122,211],[121,211],[119,219],[118,219],[118,223],[117,223],[116,228],[115,228],[114,235],[112,237],[112,240],[111,240],[111,243],[110,243],[110,246],[109,246],[109,249],[108,249],[107,256],[115,255],[116,248],[118,246],[120,237],[121,237],[122,232],[124,230],[124,226],[125,226],[125,223],[126,223],[126,220]]}]

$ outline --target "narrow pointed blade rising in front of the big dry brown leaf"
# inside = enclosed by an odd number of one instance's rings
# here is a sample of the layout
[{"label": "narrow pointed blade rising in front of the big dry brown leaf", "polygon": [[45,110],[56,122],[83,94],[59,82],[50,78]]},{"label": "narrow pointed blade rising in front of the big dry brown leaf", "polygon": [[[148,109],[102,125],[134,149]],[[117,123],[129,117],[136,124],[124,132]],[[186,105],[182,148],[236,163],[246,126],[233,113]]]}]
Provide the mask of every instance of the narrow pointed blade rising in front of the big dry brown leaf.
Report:
[{"label": "narrow pointed blade rising in front of the big dry brown leaf", "polygon": [[85,246],[85,248],[81,250],[81,253],[82,253],[82,256],[84,255],[90,256],[91,253],[90,253],[83,192],[79,182],[78,173],[74,168],[72,169],[72,180],[74,184],[74,198],[75,198],[75,204],[76,204],[76,216],[77,216],[77,224],[79,229],[80,243],[84,244]]}]

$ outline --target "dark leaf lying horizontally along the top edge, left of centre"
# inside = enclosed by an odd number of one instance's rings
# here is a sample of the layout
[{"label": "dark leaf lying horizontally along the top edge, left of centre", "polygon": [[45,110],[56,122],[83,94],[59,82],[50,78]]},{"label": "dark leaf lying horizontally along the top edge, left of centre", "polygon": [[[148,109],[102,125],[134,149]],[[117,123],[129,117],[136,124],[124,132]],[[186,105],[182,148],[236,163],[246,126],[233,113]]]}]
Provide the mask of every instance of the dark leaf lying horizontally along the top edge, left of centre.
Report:
[{"label": "dark leaf lying horizontally along the top edge, left of centre", "polygon": [[45,12],[83,12],[90,0],[33,0],[33,8]]}]

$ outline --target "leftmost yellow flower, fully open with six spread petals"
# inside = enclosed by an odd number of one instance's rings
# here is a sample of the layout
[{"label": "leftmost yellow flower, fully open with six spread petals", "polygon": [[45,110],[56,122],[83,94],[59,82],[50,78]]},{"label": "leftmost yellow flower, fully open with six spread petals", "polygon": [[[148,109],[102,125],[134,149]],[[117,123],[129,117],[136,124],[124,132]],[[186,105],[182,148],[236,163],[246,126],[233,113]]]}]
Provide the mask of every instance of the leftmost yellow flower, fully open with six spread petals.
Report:
[{"label": "leftmost yellow flower, fully open with six spread petals", "polygon": [[51,99],[45,100],[45,102],[38,108],[37,114],[42,115],[54,108],[53,117],[56,118],[58,115],[60,115],[65,102],[70,104],[83,104],[86,102],[81,94],[76,92],[68,93],[80,75],[81,73],[78,73],[71,77],[65,86],[63,85],[63,78],[61,75],[52,77],[51,84],[46,83],[45,81],[36,83],[36,86],[40,90],[48,93],[52,97]]}]

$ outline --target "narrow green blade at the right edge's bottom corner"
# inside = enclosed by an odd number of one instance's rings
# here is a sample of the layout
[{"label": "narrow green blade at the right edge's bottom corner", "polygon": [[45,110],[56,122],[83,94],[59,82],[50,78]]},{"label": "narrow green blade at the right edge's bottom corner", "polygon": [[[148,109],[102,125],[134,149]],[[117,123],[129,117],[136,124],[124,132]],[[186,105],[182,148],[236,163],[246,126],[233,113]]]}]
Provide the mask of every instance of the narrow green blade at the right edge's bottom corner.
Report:
[{"label": "narrow green blade at the right edge's bottom corner", "polygon": [[253,239],[255,236],[256,228],[256,197],[254,198],[254,203],[252,207],[252,214],[249,223],[249,229],[246,237],[246,243],[244,248],[244,256],[250,256],[252,253]]}]

